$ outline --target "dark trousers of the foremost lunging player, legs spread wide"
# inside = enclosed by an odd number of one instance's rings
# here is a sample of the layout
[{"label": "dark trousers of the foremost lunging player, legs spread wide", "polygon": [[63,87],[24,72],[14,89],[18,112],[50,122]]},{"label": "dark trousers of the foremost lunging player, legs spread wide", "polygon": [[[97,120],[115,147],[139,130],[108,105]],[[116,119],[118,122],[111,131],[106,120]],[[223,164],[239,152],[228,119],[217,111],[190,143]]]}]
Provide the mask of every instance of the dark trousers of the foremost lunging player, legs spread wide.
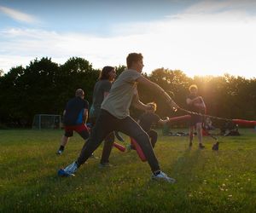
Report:
[{"label": "dark trousers of the foremost lunging player, legs spread wide", "polygon": [[84,143],[84,147],[82,148],[77,160],[79,166],[84,164],[84,162],[90,157],[90,154],[100,146],[106,136],[113,132],[113,130],[120,131],[125,135],[129,135],[134,138],[142,148],[145,157],[148,159],[148,164],[151,170],[153,172],[160,170],[160,166],[154,155],[148,134],[141,128],[141,126],[130,116],[123,119],[115,118],[106,110],[101,110],[89,139]]}]

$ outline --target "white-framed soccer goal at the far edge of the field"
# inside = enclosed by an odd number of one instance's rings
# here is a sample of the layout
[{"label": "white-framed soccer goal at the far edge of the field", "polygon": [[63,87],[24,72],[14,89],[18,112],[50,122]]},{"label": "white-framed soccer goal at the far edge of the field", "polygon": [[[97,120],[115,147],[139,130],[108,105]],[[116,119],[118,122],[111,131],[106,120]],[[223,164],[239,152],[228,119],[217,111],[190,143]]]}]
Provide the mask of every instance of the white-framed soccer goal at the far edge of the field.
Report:
[{"label": "white-framed soccer goal at the far edge of the field", "polygon": [[32,129],[60,129],[61,115],[36,114],[33,118]]}]

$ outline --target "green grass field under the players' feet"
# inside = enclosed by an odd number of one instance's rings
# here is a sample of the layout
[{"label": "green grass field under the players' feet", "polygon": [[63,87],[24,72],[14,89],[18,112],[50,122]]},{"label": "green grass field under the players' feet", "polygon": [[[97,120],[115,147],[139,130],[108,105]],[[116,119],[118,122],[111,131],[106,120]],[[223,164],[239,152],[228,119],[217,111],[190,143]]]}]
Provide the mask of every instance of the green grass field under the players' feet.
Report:
[{"label": "green grass field under the players' feet", "polygon": [[[84,142],[74,135],[57,156],[60,130],[0,130],[0,212],[255,212],[256,132],[204,137],[205,150],[188,149],[188,137],[161,136],[154,149],[174,185],[151,181],[136,152],[113,148],[115,166],[98,169],[88,160],[75,177],[57,170],[75,160]],[[127,137],[125,137],[125,141]],[[102,147],[95,155],[100,156]]]}]

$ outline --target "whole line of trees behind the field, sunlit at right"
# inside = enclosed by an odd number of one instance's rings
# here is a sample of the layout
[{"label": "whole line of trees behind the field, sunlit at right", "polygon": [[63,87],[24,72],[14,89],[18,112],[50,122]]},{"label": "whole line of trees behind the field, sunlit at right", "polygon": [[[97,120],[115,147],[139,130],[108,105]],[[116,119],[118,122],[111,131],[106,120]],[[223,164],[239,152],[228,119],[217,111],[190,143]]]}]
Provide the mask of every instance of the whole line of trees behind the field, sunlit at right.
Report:
[{"label": "whole line of trees behind the field, sunlit at right", "polygon": [[[117,66],[117,75],[125,66]],[[8,73],[0,72],[0,128],[6,126],[30,127],[35,114],[62,114],[67,100],[75,89],[85,91],[85,99],[91,104],[94,84],[100,70],[94,69],[88,60],[79,57],[58,65],[50,58],[35,59],[28,66],[16,66]],[[189,85],[197,84],[199,95],[207,105],[207,113],[222,118],[256,119],[256,78],[221,77],[189,78],[179,70],[155,69],[143,75],[172,96],[180,107],[186,108]],[[138,87],[143,102],[155,101],[157,113],[176,117],[184,112],[172,112],[161,96],[150,89]],[[131,108],[131,115],[139,113]]]}]

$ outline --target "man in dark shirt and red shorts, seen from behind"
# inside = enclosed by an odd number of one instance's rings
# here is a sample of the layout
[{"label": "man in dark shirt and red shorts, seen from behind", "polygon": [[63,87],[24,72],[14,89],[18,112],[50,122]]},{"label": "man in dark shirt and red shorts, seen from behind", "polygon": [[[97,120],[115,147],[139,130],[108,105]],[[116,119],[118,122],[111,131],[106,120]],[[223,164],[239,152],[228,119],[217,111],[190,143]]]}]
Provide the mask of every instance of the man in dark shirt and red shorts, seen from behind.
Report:
[{"label": "man in dark shirt and red shorts, seen from behind", "polygon": [[67,102],[67,106],[63,112],[63,124],[65,133],[61,138],[61,146],[57,154],[62,154],[73,131],[76,131],[84,140],[88,139],[89,131],[87,129],[86,120],[88,117],[88,101],[84,100],[84,90],[77,89],[75,97]]}]

